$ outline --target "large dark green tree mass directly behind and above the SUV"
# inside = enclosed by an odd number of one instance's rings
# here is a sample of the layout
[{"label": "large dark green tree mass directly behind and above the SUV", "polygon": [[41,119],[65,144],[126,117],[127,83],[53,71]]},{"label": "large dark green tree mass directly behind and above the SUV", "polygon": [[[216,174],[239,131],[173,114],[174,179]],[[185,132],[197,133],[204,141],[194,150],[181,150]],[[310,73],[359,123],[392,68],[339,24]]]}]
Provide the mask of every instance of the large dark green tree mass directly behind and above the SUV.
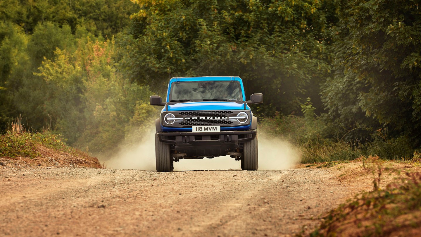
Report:
[{"label": "large dark green tree mass directly behind and above the SUV", "polygon": [[[240,75],[259,112],[299,113],[329,71],[326,14],[318,0],[135,1],[123,65],[133,81],[163,89],[172,76]],[[326,13],[328,12],[328,13]]]}]

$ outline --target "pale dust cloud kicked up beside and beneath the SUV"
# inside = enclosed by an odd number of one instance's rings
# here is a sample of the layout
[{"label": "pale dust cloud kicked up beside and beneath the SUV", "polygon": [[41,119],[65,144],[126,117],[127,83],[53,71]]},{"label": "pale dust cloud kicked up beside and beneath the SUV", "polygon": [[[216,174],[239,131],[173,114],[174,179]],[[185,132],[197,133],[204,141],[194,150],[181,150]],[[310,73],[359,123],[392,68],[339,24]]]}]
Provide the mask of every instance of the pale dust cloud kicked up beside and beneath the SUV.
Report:
[{"label": "pale dust cloud kicked up beside and beneath the SUV", "polygon": [[[155,132],[150,139],[133,145],[124,146],[117,155],[105,161],[110,169],[134,169],[156,171],[155,168]],[[290,143],[278,138],[258,135],[259,170],[287,170],[300,162],[298,150]],[[187,170],[240,170],[240,161],[230,156],[213,159],[181,159],[174,162],[174,171]]]}]

